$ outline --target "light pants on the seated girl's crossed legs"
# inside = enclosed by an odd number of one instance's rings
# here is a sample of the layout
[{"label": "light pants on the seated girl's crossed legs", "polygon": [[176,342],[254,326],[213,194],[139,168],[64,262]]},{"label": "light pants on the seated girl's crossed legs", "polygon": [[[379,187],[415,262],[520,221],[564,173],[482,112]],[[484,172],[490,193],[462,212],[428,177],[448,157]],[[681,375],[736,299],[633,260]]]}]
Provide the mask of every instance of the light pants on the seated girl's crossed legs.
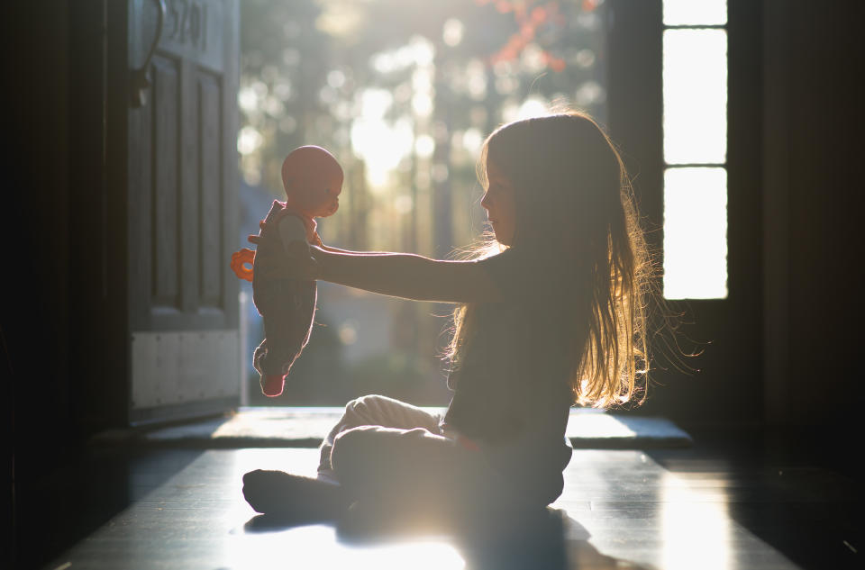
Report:
[{"label": "light pants on the seated girl's crossed legs", "polygon": [[353,400],[322,443],[319,474],[387,510],[448,516],[546,505],[521,502],[483,452],[447,437],[441,421],[385,396]]}]

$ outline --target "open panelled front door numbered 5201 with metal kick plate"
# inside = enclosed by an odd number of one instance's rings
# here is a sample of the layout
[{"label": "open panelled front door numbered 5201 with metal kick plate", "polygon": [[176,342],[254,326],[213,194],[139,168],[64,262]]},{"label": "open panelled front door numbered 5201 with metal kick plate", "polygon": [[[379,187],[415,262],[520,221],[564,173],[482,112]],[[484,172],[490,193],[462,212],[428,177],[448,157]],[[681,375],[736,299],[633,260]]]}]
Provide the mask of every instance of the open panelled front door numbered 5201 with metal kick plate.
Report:
[{"label": "open panelled front door numbered 5201 with metal kick plate", "polygon": [[145,64],[150,79],[128,105],[132,423],[238,402],[239,17],[235,0],[128,5],[132,83]]}]

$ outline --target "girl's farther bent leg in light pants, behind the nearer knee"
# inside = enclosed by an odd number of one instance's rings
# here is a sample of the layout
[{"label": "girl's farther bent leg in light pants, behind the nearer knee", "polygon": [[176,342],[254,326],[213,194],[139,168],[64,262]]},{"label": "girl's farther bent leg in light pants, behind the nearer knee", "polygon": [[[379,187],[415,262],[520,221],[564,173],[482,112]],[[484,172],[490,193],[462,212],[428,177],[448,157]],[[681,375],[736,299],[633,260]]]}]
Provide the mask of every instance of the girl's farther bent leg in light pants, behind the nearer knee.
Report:
[{"label": "girl's farther bent leg in light pants, behind the nearer knee", "polygon": [[343,431],[360,426],[381,426],[401,430],[423,428],[438,433],[440,421],[438,414],[424,412],[416,406],[387,396],[361,396],[345,405],[345,412],[340,421],[337,421],[331,432],[324,438],[320,448],[318,473],[326,479],[334,479],[331,465],[333,442]]}]

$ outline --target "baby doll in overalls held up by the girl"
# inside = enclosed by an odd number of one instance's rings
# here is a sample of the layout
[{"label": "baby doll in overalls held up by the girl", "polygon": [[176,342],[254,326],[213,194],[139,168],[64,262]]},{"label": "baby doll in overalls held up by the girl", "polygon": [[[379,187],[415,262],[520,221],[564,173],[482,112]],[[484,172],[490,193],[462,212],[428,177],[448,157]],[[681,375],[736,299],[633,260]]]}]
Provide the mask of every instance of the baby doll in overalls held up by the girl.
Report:
[{"label": "baby doll in overalls held up by the girl", "polygon": [[[275,200],[266,218],[267,227],[278,230],[282,248],[308,255],[310,243],[322,245],[314,218],[336,212],[342,176],[339,163],[325,149],[305,146],[288,154],[282,163],[286,202]],[[273,245],[262,242],[259,251],[266,247]],[[265,339],[255,349],[252,362],[261,375],[261,392],[267,396],[282,394],[288,370],[309,340],[316,293],[314,281],[261,276],[253,259],[252,301],[264,321]]]}]

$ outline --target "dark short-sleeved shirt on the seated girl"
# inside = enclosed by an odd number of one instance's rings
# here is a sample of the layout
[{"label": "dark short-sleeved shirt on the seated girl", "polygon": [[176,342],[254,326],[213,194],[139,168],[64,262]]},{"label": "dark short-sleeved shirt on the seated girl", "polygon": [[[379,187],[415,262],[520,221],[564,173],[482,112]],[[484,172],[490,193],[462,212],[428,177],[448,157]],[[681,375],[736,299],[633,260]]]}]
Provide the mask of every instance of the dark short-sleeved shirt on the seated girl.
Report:
[{"label": "dark short-sleeved shirt on the seated girl", "polygon": [[557,303],[563,280],[541,258],[513,248],[477,263],[505,301],[478,303],[475,334],[448,378],[454,395],[442,427],[477,442],[521,487],[558,485],[558,495],[571,455],[569,347]]}]

